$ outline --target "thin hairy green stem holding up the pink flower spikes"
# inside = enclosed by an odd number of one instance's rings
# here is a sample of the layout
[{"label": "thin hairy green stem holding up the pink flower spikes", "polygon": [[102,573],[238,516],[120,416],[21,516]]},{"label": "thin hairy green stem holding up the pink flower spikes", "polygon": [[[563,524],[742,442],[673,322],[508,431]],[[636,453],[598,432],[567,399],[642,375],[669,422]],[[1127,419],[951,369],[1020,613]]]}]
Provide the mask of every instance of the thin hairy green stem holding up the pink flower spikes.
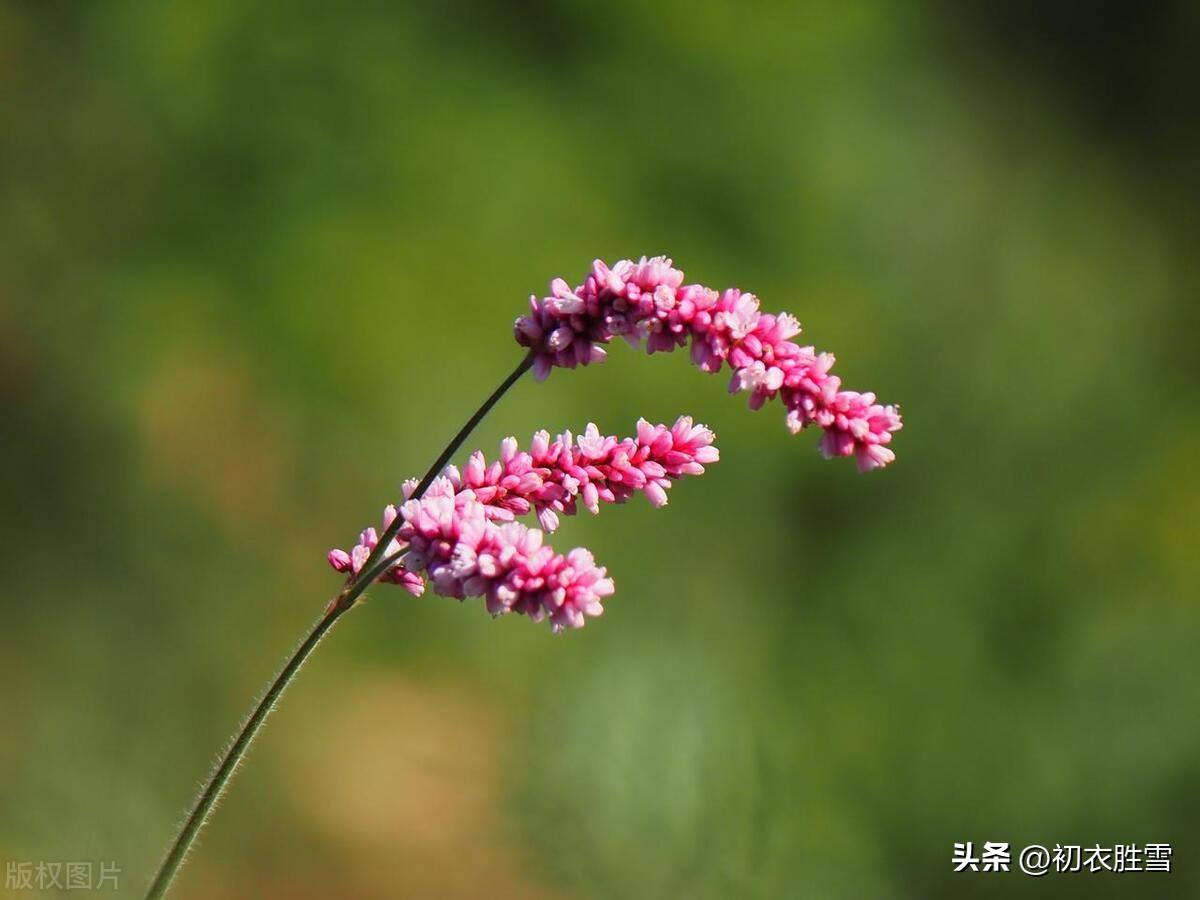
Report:
[{"label": "thin hairy green stem holding up the pink flower spikes", "polygon": [[[446,463],[450,462],[450,457],[455,455],[462,442],[467,439],[475,426],[482,421],[484,416],[491,412],[500,397],[511,388],[517,380],[533,366],[533,354],[527,355],[521,364],[509,374],[508,378],[492,391],[492,395],[484,401],[484,404],[475,410],[475,413],[467,420],[467,424],[455,434],[450,444],[442,455],[438,457],[437,462],[430,467],[430,470],[421,479],[420,485],[413,492],[413,497],[421,497],[433,482],[433,479],[438,476],[438,473],[445,468]],[[379,565],[379,556],[383,553],[383,548],[396,536],[396,532],[400,530],[401,518],[397,516],[392,526],[384,533],[379,542],[376,545],[374,551],[367,558],[367,562],[362,565],[358,576],[350,576],[346,586],[342,588],[341,593],[335,596],[329,606],[325,608],[325,613],[320,617],[312,630],[308,632],[307,637],[300,643],[292,654],[292,658],[284,664],[280,673],[275,676],[275,679],[268,686],[266,691],[263,694],[262,698],[254,706],[253,712],[242,724],[241,728],[238,731],[226,750],[224,756],[221,757],[221,762],[217,764],[212,775],[204,785],[204,790],[200,791],[199,797],[196,799],[196,804],[192,806],[187,815],[187,820],[184,822],[184,827],[180,829],[179,835],[175,841],[170,845],[170,850],[167,852],[166,859],[162,860],[162,865],[158,866],[158,871],[155,874],[154,881],[150,883],[150,888],[146,892],[146,900],[157,900],[166,895],[167,890],[170,888],[175,875],[179,872],[180,866],[187,859],[187,853],[192,845],[196,842],[196,838],[199,835],[200,829],[204,828],[204,823],[208,821],[209,816],[212,815],[212,809],[216,806],[217,800],[226,792],[229,785],[229,779],[233,778],[233,773],[238,769],[238,764],[245,758],[246,752],[250,750],[250,745],[254,742],[258,736],[259,730],[263,727],[263,722],[266,721],[266,716],[271,714],[275,704],[278,702],[280,697],[283,696],[283,691],[287,690],[292,679],[295,678],[296,673],[304,666],[305,661],[312,655],[312,652],[317,649],[317,644],[320,640],[329,632],[334,626],[334,623],[342,617],[348,610],[350,610],[355,601],[362,595],[362,592],[370,587],[374,580],[382,575],[388,568],[395,562],[394,559],[383,560],[385,564]]]}]

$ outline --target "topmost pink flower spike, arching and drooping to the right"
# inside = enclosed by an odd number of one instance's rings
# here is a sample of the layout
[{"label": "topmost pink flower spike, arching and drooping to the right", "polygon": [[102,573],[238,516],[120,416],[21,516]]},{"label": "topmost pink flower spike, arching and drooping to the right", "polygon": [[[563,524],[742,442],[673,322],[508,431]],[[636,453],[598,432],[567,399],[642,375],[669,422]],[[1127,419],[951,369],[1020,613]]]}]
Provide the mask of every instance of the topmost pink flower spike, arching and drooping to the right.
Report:
[{"label": "topmost pink flower spike, arching and drooping to the right", "polygon": [[778,397],[793,433],[822,428],[826,456],[854,456],[863,472],[895,458],[887,444],[901,427],[899,409],[877,403],[874,394],[841,390],[830,373],[833,355],[792,341],[800,332],[794,317],[763,313],[754,294],[737,288],[718,293],[683,281],[666,257],[612,266],[598,259],[574,289],[554,278],[550,296],[530,298],[529,314],[515,325],[517,341],[534,353],[534,377],[599,362],[616,336],[649,353],[690,341],[703,371],[728,365],[730,391],[746,391],[751,408]]}]

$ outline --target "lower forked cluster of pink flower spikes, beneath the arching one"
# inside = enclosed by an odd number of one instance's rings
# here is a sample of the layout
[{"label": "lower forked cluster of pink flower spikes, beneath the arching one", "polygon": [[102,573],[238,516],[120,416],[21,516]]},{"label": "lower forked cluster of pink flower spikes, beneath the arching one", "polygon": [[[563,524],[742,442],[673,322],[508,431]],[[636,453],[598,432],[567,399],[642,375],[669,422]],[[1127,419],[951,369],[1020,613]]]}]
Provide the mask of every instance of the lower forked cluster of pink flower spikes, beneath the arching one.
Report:
[{"label": "lower forked cluster of pink flower spikes, beneath the arching one", "polygon": [[[623,503],[637,492],[662,506],[672,481],[718,461],[713,440],[688,416],[672,426],[640,420],[629,438],[602,436],[595,424],[580,437],[538,432],[528,450],[506,438],[498,460],[488,463],[476,451],[461,472],[446,467],[420,498],[413,496],[416,482],[404,482],[406,503],[384,511],[385,534],[401,517],[386,550],[398,562],[379,580],[420,595],[428,577],[445,596],[485,598],[493,616],[517,612],[548,618],[556,630],[578,628],[602,612],[612,580],[588,551],[557,554],[541,530],[514,520],[536,512],[553,532],[559,515],[575,515],[580,503],[595,514],[601,502]],[[330,565],[358,575],[378,542],[368,528],[350,552],[330,551]]]}]

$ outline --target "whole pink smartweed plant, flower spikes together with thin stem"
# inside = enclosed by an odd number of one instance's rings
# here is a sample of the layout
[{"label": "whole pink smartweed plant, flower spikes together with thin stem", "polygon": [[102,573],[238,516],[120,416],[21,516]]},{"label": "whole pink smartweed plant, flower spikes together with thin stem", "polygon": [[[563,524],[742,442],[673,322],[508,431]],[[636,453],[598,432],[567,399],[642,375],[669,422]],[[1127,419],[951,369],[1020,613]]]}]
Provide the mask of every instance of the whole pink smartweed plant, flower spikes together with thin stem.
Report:
[{"label": "whole pink smartweed plant, flower spikes together with thin stem", "polygon": [[[690,343],[701,370],[731,370],[730,391],[745,392],[751,408],[778,398],[793,433],[821,428],[826,456],[853,456],[864,472],[895,458],[888,444],[900,430],[896,407],[876,403],[874,394],[842,390],[841,379],[830,374],[833,355],[792,340],[800,332],[792,316],[763,313],[754,294],[737,288],[718,293],[684,284],[683,272],[666,257],[612,266],[596,260],[575,288],[556,278],[550,296],[530,298],[529,313],[515,330],[529,352],[425,476],[404,482],[400,505],[384,510],[383,533],[367,528],[349,551],[329,552],[329,564],[346,575],[342,589],[234,734],[148,898],[166,894],[266,716],[334,623],[371,584],[398,584],[414,596],[430,584],[446,596],[482,598],[493,616],[546,619],[556,631],[580,628],[604,611],[612,578],[587,550],[557,553],[545,534],[580,506],[594,514],[601,504],[624,503],[635,493],[664,506],[674,481],[702,474],[719,458],[713,433],[682,416],[671,426],[638,421],[628,438],[604,436],[594,424],[578,437],[564,432],[553,440],[540,431],[527,450],[508,438],[492,462],[475,452],[462,469],[450,466],[475,426],[530,368],[545,379],[554,368],[599,362],[614,337],[649,353]],[[535,515],[540,527],[517,521],[527,515]]]}]

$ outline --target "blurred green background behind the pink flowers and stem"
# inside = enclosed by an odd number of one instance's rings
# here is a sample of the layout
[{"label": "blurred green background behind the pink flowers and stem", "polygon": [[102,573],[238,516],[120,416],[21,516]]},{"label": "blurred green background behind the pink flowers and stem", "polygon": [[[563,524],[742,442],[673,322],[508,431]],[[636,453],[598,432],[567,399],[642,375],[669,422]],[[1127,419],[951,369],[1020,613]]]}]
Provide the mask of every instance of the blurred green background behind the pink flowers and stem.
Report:
[{"label": "blurred green background behind the pink flowers and stem", "polygon": [[1196,10],[0,4],[0,859],[140,892],[528,294],[667,253],[901,403],[896,466],[683,354],[522,382],[472,444],[722,461],[565,522],[582,632],[372,592],[178,895],[1200,895]]}]

